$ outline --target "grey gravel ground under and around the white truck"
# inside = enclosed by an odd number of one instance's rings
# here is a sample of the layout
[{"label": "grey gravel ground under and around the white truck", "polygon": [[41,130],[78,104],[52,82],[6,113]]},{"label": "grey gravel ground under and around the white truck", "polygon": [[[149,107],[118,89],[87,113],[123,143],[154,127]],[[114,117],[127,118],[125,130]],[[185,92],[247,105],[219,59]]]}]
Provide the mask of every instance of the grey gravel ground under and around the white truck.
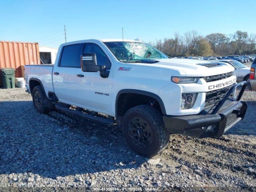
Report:
[{"label": "grey gravel ground under and around the white truck", "polygon": [[246,117],[221,138],[174,134],[168,148],[148,160],[124,144],[118,126],[38,114],[24,89],[0,89],[0,191],[256,191],[256,92],[242,99]]}]

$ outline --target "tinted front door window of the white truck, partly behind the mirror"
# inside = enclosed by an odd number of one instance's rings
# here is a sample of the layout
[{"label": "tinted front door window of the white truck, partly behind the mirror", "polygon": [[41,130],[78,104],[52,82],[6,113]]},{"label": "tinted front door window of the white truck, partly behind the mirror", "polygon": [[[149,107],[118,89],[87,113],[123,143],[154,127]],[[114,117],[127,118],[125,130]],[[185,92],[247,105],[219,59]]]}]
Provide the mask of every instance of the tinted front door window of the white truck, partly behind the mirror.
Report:
[{"label": "tinted front door window of the white truck, partly behind the mirror", "polygon": [[100,46],[93,43],[86,43],[84,53],[96,53],[97,64],[100,66],[105,65],[106,69],[111,68],[111,62]]}]

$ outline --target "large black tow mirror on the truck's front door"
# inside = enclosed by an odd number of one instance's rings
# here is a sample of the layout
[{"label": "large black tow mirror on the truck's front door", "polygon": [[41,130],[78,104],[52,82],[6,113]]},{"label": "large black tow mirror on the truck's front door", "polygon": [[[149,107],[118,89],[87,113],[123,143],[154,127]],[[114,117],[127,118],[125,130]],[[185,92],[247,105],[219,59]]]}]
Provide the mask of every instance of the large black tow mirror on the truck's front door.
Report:
[{"label": "large black tow mirror on the truck's front door", "polygon": [[84,72],[97,72],[104,71],[106,66],[97,65],[96,53],[82,53],[81,68]]}]

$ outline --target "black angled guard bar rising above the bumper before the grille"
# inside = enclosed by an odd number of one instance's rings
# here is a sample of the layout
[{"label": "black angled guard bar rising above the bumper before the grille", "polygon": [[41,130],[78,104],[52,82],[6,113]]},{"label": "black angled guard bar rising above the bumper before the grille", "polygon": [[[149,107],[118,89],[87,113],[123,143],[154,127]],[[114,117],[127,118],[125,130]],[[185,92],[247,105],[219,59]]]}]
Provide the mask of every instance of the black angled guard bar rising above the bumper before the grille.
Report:
[{"label": "black angled guard bar rising above the bumper before the grille", "polygon": [[211,114],[216,114],[218,110],[222,107],[222,105],[228,100],[229,96],[234,92],[234,90],[238,87],[242,86],[238,96],[236,97],[236,101],[239,101],[244,93],[244,90],[247,86],[247,81],[240,82],[238,84],[234,84],[230,90],[228,90],[227,94],[224,96],[224,98],[218,103],[218,105],[214,108]]}]

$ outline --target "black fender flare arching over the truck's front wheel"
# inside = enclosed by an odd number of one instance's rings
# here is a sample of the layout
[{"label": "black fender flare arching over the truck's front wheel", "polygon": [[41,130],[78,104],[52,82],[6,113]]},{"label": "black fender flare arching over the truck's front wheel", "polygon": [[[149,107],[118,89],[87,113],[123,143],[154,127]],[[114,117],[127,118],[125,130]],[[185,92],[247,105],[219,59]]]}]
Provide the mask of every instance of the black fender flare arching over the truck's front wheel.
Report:
[{"label": "black fender flare arching over the truck's front wheel", "polygon": [[140,95],[152,97],[159,103],[162,114],[164,114],[164,115],[166,114],[166,110],[165,110],[165,107],[164,107],[164,102],[162,101],[162,99],[158,95],[156,95],[152,92],[136,90],[136,89],[123,89],[123,90],[120,90],[117,93],[117,95],[116,95],[116,106],[115,106],[115,113],[116,114],[117,114],[117,111],[118,111],[118,98],[123,93],[134,93],[134,94],[140,94]]}]

